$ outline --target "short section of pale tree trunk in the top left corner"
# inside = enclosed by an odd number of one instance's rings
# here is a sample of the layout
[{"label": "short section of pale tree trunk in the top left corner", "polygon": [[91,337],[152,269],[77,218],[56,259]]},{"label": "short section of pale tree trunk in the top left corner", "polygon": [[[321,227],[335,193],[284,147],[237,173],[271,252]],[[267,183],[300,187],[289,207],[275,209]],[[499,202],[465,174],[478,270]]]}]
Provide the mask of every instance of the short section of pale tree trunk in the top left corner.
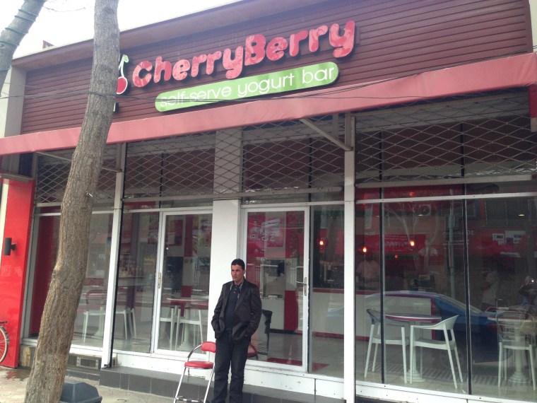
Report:
[{"label": "short section of pale tree trunk in the top left corner", "polygon": [[11,24],[0,34],[0,90],[11,69],[13,53],[35,23],[35,18],[39,15],[45,1],[47,0],[25,0]]}]

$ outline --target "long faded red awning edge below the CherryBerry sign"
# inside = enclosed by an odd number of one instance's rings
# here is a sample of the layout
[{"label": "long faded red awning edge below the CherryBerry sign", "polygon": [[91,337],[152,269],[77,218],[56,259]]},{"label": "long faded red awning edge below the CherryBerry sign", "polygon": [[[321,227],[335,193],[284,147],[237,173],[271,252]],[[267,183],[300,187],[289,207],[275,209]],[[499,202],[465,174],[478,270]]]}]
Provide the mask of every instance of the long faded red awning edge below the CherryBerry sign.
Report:
[{"label": "long faded red awning edge below the CherryBerry sign", "polygon": [[[537,84],[537,55],[521,54],[408,77],[323,88],[304,93],[304,98],[295,93],[278,100],[255,100],[209,110],[116,122],[110,127],[107,144],[211,132],[533,84]],[[6,137],[0,139],[0,156],[74,148],[80,130],[80,127],[75,127]]]}]

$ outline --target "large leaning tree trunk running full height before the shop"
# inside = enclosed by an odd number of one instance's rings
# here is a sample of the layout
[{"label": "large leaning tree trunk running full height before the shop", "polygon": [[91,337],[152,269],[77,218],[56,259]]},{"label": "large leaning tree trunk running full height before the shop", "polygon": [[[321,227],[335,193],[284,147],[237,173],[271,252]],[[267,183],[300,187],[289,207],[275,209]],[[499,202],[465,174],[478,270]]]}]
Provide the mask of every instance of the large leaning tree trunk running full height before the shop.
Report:
[{"label": "large leaning tree trunk running full height before the shop", "polygon": [[112,124],[119,61],[119,0],[95,1],[95,39],[88,104],[61,204],[59,248],[41,319],[26,403],[57,403],[73,338],[88,260],[93,194]]}]

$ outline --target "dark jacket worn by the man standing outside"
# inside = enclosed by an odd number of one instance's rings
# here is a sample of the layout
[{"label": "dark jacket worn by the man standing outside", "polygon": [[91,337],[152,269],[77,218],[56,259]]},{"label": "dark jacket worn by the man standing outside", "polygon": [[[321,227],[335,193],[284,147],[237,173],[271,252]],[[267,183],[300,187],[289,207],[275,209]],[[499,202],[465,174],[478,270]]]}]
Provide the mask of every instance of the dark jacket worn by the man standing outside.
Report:
[{"label": "dark jacket worn by the man standing outside", "polygon": [[[218,339],[225,330],[225,305],[228,303],[232,281],[222,286],[222,292],[214,310],[211,326],[215,337]],[[240,289],[235,313],[233,315],[232,337],[235,341],[240,341],[244,337],[252,337],[261,320],[261,298],[259,287],[244,280]]]}]

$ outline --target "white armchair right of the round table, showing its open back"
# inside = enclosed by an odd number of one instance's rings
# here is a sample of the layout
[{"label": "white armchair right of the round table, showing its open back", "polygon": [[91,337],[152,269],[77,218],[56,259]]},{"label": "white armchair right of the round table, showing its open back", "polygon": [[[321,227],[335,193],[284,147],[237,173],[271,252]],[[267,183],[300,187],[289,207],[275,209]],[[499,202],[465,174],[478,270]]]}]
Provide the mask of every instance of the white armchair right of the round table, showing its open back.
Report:
[{"label": "white armchair right of the round table, showing its open back", "polygon": [[[449,364],[452,367],[453,382],[455,384],[455,389],[457,388],[457,381],[455,376],[455,367],[453,365],[453,353],[455,354],[455,359],[457,361],[457,368],[459,368],[459,377],[462,382],[462,371],[461,371],[461,362],[459,361],[459,351],[457,350],[457,344],[455,339],[455,333],[453,332],[453,327],[459,315],[449,317],[444,319],[441,322],[434,323],[432,325],[411,325],[411,383],[412,383],[412,374],[415,371],[413,368],[415,359],[415,348],[420,347],[420,371],[423,372],[423,349],[437,349],[447,351],[449,356]],[[416,330],[420,331],[419,335]],[[429,337],[423,336],[423,330],[439,330],[443,332],[443,340],[430,339]]]}]

